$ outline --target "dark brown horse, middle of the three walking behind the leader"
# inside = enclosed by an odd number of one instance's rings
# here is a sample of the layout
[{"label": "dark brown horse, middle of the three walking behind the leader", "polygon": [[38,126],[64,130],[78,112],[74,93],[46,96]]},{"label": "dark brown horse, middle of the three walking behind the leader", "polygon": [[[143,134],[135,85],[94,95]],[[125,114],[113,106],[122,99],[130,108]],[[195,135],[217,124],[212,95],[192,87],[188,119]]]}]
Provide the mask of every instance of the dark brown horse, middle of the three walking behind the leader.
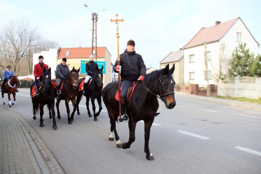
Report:
[{"label": "dark brown horse, middle of the three walking behind the leader", "polygon": [[[72,121],[70,119],[70,107],[69,107],[69,102],[72,102],[73,107],[75,106],[76,103],[76,96],[77,96],[77,86],[78,86],[78,79],[79,79],[79,71],[72,68],[72,70],[69,72],[68,77],[66,77],[65,80],[63,80],[62,84],[62,90],[61,94],[59,96],[59,99],[57,99],[56,102],[56,109],[57,109],[57,118],[61,119],[60,115],[60,110],[59,110],[59,104],[61,100],[65,101],[65,106],[66,106],[66,112],[67,112],[67,118],[68,118],[68,124],[72,124]],[[55,81],[55,80],[53,80]]]}]

